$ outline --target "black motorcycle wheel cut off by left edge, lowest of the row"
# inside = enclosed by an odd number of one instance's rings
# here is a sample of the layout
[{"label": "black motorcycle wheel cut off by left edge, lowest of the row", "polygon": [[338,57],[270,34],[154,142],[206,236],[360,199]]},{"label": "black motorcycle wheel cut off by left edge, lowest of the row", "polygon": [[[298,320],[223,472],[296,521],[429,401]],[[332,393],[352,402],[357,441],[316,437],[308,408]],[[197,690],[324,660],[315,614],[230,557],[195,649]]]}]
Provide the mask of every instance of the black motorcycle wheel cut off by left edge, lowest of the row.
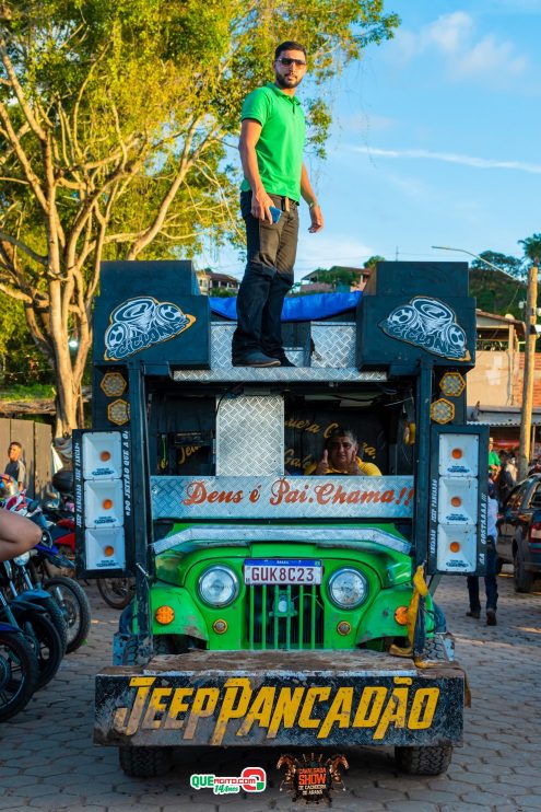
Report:
[{"label": "black motorcycle wheel cut off by left edge, lowest of the row", "polygon": [[0,722],[26,707],[38,675],[34,651],[16,633],[0,631]]}]

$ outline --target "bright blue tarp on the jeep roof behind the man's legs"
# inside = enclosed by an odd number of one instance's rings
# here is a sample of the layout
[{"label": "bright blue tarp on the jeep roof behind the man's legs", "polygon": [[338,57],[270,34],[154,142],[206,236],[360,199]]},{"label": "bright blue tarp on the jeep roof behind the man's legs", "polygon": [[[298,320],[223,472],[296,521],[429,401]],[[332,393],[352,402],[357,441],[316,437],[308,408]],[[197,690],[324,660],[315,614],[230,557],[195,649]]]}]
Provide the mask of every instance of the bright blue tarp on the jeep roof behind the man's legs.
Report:
[{"label": "bright blue tarp on the jeep roof behind the man's legs", "polygon": [[[329,318],[346,310],[354,310],[362,297],[361,291],[355,293],[311,293],[305,297],[287,297],[284,300],[282,322],[318,322]],[[230,297],[210,297],[211,311],[225,318],[236,321],[237,299]]]}]

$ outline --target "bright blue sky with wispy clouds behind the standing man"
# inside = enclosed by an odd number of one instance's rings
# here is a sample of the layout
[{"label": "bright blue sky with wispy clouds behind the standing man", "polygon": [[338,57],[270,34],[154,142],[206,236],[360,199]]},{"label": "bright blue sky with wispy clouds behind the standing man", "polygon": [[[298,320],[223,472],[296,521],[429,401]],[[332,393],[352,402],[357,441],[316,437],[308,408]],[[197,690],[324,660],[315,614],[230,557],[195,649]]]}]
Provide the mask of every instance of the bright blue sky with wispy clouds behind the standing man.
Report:
[{"label": "bright blue sky with wispy clouds behind the standing man", "polygon": [[[295,276],[388,259],[464,260],[449,245],[521,256],[541,232],[541,0],[387,0],[402,24],[327,89],[325,161],[307,156],[325,216]],[[303,86],[298,97],[303,101]],[[242,277],[222,250],[198,265]]]}]

